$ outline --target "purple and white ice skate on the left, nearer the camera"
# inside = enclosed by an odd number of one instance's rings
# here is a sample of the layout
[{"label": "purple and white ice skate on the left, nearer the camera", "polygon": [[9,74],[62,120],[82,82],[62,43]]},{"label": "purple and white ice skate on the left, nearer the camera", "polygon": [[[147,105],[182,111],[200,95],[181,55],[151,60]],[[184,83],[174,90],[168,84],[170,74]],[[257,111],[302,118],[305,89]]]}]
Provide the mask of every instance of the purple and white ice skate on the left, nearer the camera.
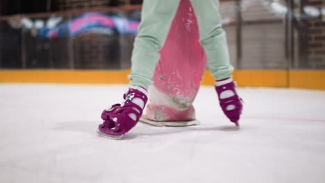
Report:
[{"label": "purple and white ice skate on the left, nearer the camera", "polygon": [[109,110],[103,111],[103,124],[99,125],[97,133],[110,139],[121,139],[138,123],[148,101],[147,95],[146,89],[129,85],[123,103],[112,105]]}]

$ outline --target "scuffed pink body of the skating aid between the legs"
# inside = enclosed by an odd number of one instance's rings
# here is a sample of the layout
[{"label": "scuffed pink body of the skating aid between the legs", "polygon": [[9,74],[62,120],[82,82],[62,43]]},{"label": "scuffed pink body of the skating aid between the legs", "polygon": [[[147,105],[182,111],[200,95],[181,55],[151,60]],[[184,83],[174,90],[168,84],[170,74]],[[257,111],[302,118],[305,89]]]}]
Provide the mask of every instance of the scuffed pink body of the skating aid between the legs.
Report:
[{"label": "scuffed pink body of the skating aid between the legs", "polygon": [[[188,111],[193,108],[192,101],[199,91],[206,69],[206,53],[199,43],[197,18],[189,0],[180,2],[160,55],[153,75],[153,86],[170,96],[176,104],[177,101],[190,101],[190,105],[179,111],[170,106],[149,104],[147,116],[153,116],[158,109],[163,109],[167,114],[165,120],[190,120]],[[151,98],[153,100],[154,96]]]}]

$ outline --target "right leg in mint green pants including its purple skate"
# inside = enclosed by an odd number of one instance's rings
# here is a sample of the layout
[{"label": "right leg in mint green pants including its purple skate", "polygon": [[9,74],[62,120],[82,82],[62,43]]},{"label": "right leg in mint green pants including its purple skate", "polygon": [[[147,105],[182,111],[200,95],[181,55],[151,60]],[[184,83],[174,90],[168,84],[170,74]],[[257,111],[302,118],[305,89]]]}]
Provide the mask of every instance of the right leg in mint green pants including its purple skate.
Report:
[{"label": "right leg in mint green pants including its purple skate", "polygon": [[231,79],[233,67],[229,62],[226,33],[222,29],[218,0],[191,0],[199,22],[200,43],[207,56],[208,67],[216,80],[216,91],[224,114],[238,125],[242,113],[242,99]]}]

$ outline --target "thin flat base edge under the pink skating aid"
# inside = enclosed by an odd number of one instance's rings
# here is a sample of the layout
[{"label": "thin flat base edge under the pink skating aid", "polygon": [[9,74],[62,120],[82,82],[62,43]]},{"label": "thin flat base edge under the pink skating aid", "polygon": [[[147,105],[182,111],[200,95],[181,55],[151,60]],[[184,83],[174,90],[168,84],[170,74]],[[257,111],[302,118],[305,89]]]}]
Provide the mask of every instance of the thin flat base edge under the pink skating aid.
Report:
[{"label": "thin flat base edge under the pink skating aid", "polygon": [[192,120],[192,121],[151,121],[146,119],[145,117],[140,118],[140,122],[147,123],[149,125],[154,126],[169,126],[169,127],[177,127],[177,126],[190,126],[190,125],[199,125],[200,121]]}]

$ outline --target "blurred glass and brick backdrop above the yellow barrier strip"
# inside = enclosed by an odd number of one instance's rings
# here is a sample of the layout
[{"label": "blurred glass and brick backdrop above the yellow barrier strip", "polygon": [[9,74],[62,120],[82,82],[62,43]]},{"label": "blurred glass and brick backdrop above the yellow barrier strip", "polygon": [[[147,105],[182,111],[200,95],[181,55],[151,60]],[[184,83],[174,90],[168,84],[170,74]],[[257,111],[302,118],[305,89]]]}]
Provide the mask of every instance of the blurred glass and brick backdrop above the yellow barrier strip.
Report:
[{"label": "blurred glass and brick backdrop above the yellow barrier strip", "polygon": [[[129,69],[141,4],[1,0],[0,68]],[[222,0],[220,12],[236,69],[325,69],[325,1]]]}]

